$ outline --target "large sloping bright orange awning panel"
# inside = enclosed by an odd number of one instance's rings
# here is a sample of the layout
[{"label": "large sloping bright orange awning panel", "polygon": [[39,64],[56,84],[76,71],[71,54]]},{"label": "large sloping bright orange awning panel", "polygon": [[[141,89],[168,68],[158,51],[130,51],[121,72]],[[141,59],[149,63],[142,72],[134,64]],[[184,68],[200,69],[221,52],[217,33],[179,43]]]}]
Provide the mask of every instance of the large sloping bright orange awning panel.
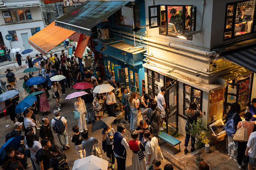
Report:
[{"label": "large sloping bright orange awning panel", "polygon": [[33,46],[37,51],[47,55],[53,47],[62,43],[65,39],[72,36],[75,31],[67,30],[62,27],[55,26],[55,21],[28,38],[28,43]]}]

